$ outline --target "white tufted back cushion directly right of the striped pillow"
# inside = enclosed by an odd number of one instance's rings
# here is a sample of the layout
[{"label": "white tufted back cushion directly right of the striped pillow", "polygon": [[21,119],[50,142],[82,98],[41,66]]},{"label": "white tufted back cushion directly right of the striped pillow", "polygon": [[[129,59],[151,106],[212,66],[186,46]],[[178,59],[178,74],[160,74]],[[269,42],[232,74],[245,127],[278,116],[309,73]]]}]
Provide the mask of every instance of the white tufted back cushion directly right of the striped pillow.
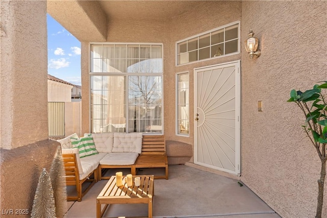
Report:
[{"label": "white tufted back cushion directly right of the striped pillow", "polygon": [[[89,133],[85,133],[84,136],[87,136]],[[113,146],[113,133],[91,133],[96,149],[98,152],[111,153]]]}]

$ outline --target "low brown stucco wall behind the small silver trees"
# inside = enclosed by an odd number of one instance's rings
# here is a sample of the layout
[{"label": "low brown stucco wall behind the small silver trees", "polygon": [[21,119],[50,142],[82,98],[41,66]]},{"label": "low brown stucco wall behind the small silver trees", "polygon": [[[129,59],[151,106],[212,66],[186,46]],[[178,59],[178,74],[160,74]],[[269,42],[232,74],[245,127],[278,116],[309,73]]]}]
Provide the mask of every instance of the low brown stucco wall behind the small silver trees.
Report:
[{"label": "low brown stucco wall behind the small silver trees", "polygon": [[[26,146],[1,149],[0,208],[2,218],[31,217],[33,200],[42,169],[50,171],[51,162],[60,143],[45,139]],[[5,210],[13,209],[14,214]],[[28,210],[28,214],[16,214],[16,209]]]}]

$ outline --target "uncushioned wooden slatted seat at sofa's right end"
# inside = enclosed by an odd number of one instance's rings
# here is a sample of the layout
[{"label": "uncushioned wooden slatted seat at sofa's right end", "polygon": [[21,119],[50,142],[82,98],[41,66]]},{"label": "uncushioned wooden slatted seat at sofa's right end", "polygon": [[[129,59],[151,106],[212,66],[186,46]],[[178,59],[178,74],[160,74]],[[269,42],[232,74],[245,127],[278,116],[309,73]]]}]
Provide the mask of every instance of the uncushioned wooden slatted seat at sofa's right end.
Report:
[{"label": "uncushioned wooden slatted seat at sofa's right end", "polygon": [[136,175],[138,168],[165,168],[165,176],[156,176],[155,179],[168,179],[168,158],[164,135],[143,135],[142,153],[131,168],[132,175]]}]

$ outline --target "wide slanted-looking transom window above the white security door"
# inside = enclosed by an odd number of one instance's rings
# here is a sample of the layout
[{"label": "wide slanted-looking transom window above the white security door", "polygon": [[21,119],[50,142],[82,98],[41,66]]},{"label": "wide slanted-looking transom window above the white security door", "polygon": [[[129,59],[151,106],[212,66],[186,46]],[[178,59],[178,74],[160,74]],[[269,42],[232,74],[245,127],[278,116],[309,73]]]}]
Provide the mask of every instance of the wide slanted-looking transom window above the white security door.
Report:
[{"label": "wide slanted-looking transom window above the white security door", "polygon": [[176,65],[239,53],[239,22],[176,43]]}]

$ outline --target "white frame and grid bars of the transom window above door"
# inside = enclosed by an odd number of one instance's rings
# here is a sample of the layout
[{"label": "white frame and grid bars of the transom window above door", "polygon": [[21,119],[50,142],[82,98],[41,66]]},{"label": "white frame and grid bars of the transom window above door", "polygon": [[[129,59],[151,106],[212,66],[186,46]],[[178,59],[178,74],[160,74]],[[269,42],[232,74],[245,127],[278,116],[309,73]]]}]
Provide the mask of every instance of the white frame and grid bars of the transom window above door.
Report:
[{"label": "white frame and grid bars of the transom window above door", "polygon": [[[188,40],[197,39],[197,42],[199,43],[199,38],[201,38],[201,37],[203,37],[203,36],[205,36],[207,34],[212,34],[214,32],[218,32],[218,31],[221,31],[221,30],[223,31],[223,33],[225,35],[225,29],[227,29],[229,27],[232,27],[232,26],[236,26],[236,25],[238,25],[238,38],[237,38],[238,39],[238,43],[237,43],[238,51],[237,52],[229,53],[229,54],[226,54],[226,55],[220,55],[220,56],[216,56],[216,57],[209,57],[209,58],[200,59],[200,60],[199,60],[199,57],[197,57],[198,60],[196,60],[196,61],[178,64],[178,57],[180,57],[180,55],[178,55],[178,44],[179,43],[185,42],[186,47],[187,47]],[[232,40],[235,40],[235,39],[232,39]],[[222,43],[225,45],[226,42],[229,42],[229,41],[232,41],[232,40],[225,40],[225,38],[224,38]],[[221,26],[221,27],[218,27],[218,28],[215,28],[215,29],[212,29],[212,30],[209,30],[209,31],[206,31],[206,32],[203,32],[203,33],[200,33],[200,34],[197,34],[197,35],[182,39],[182,40],[179,40],[179,41],[177,41],[175,43],[175,66],[182,66],[182,65],[186,65],[186,64],[197,63],[197,62],[200,62],[200,61],[206,61],[206,60],[211,60],[211,59],[215,59],[215,58],[227,57],[227,56],[231,56],[231,55],[240,54],[240,43],[241,43],[241,40],[240,40],[240,21],[231,22],[231,23],[228,23],[227,25],[224,25],[224,26]],[[196,50],[192,50],[192,52],[197,51],[197,56],[198,56],[200,49],[204,49],[206,47],[209,47],[211,49],[211,46],[213,46],[211,44],[211,42],[210,42],[209,46],[204,46],[204,47],[201,47],[201,48],[199,48],[199,45],[198,45],[198,48]],[[225,46],[224,46],[224,50],[225,50]],[[187,49],[186,49],[186,52],[183,53],[183,54],[185,54],[186,58],[188,58],[188,59],[189,59],[189,52],[191,52],[191,51],[187,51]]]}]

